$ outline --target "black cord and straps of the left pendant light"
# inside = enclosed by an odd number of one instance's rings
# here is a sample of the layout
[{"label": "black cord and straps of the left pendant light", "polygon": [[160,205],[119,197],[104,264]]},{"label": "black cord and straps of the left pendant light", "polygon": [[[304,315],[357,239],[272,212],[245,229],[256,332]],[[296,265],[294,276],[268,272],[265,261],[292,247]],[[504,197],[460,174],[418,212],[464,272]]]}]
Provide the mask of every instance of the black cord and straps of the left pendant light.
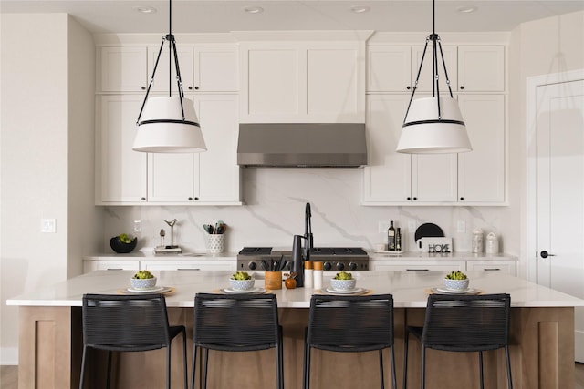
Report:
[{"label": "black cord and straps of the left pendant light", "polygon": [[[183,115],[182,122],[191,124],[191,122],[187,122],[184,118],[184,106],[183,106],[183,97],[184,97],[184,90],[183,90],[183,80],[181,78],[181,69],[179,67],[179,56],[177,55],[176,51],[176,42],[174,40],[174,36],[172,35],[172,0],[169,0],[169,33],[166,36],[162,36],[162,43],[161,47],[158,51],[158,56],[156,56],[156,62],[154,63],[154,69],[152,70],[152,76],[150,77],[150,83],[148,84],[148,89],[146,89],[146,96],[144,97],[144,101],[142,102],[142,106],[140,108],[140,113],[138,114],[138,119],[136,120],[136,125],[140,125],[141,121],[140,118],[142,116],[142,112],[144,111],[144,106],[146,106],[146,101],[148,100],[148,96],[150,95],[150,90],[152,84],[154,83],[154,75],[156,75],[156,69],[158,68],[158,63],[160,62],[162,50],[164,49],[164,42],[168,41],[168,61],[169,61],[169,73],[168,73],[168,93],[169,97],[172,97],[172,56],[174,56],[174,67],[176,70],[176,82],[179,91],[179,101],[181,102],[181,113]],[[175,123],[176,120],[173,119],[155,119],[155,120],[147,120],[143,121],[142,124],[147,123]],[[180,122],[180,121],[179,121]]]}]

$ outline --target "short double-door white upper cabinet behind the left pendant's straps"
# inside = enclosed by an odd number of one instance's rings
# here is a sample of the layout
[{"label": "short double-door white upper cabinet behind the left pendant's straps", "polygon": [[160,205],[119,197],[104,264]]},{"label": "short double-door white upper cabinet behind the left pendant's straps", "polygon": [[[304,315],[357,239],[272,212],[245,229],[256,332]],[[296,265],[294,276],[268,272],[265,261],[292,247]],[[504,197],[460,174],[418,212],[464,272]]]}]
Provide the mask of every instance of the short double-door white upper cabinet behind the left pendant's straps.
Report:
[{"label": "short double-door white upper cabinet behind the left pendant's straps", "polygon": [[[168,43],[166,44],[168,46]],[[149,69],[151,77],[160,46],[149,46]],[[235,92],[239,88],[237,48],[235,46],[177,46],[183,90],[187,92]],[[178,90],[176,67],[172,71],[172,90]],[[162,49],[161,59],[156,69],[152,91],[169,90],[169,50]]]}]

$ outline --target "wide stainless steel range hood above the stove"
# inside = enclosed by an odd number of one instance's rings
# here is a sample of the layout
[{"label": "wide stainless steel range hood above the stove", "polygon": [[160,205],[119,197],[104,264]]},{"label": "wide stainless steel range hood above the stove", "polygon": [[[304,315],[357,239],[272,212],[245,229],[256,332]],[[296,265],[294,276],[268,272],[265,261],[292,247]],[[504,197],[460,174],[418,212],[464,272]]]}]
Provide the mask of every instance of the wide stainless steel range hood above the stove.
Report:
[{"label": "wide stainless steel range hood above the stove", "polygon": [[365,125],[240,124],[237,164],[245,167],[358,168],[367,165]]}]

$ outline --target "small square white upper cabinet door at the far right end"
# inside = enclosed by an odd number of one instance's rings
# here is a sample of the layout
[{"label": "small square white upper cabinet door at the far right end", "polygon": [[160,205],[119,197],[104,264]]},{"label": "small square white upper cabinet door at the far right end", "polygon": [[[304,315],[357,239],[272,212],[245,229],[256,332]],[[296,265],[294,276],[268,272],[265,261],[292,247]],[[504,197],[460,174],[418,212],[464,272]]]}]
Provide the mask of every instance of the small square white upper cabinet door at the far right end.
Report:
[{"label": "small square white upper cabinet door at the far right end", "polygon": [[504,46],[459,46],[458,90],[502,92],[505,90]]}]

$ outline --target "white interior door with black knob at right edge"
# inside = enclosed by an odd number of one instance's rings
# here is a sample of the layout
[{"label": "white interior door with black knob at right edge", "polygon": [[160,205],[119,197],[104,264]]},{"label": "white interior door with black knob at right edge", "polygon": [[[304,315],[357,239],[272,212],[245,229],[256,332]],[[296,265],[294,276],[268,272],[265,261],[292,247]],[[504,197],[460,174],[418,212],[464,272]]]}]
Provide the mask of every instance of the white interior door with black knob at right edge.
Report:
[{"label": "white interior door with black knob at right edge", "polygon": [[[537,282],[584,298],[584,80],[537,87]],[[576,361],[584,312],[576,310]]]}]

